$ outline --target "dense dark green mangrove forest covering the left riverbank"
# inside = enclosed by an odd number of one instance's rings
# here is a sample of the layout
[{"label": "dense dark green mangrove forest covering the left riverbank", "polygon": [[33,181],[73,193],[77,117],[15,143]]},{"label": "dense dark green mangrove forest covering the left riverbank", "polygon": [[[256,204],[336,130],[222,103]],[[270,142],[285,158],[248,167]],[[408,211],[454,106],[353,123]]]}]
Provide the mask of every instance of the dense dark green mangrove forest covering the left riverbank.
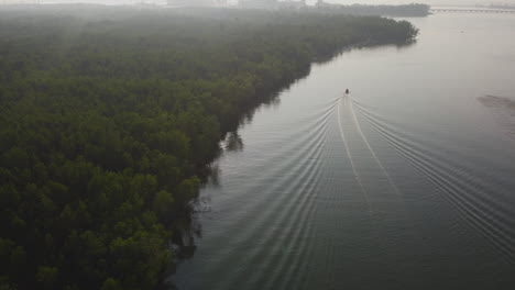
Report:
[{"label": "dense dark green mangrove forest covering the left riverbank", "polygon": [[375,16],[91,9],[0,12],[2,290],[154,289],[242,114],[316,57],[417,34]]}]

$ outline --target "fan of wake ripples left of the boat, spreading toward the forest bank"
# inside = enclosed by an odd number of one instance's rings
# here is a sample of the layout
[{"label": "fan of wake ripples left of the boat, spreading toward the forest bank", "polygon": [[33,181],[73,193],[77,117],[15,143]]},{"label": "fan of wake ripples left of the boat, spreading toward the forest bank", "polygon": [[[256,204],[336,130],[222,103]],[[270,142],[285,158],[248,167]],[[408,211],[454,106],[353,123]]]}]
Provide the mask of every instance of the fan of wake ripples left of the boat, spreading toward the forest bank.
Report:
[{"label": "fan of wake ripples left of the boat, spreading toward the forest bank", "polygon": [[[302,285],[300,278],[306,276],[314,246],[313,220],[324,171],[327,124],[338,101],[331,99],[315,109],[311,115],[304,116],[299,125],[292,126],[289,134],[282,136],[288,140],[283,143],[285,146],[270,153],[258,150],[264,167],[261,164],[245,166],[245,170],[262,174],[249,177],[242,191],[260,194],[234,196],[245,197],[249,202],[237,202],[241,219],[234,215],[226,221],[223,227],[238,231],[231,233],[233,245],[227,247],[230,252],[220,255],[217,263],[245,266],[233,272],[227,272],[224,268],[210,269],[218,277],[211,289],[228,289],[232,285],[246,285],[248,289],[284,289],[286,285]],[[266,140],[272,144],[277,142]],[[262,144],[261,147],[273,145]],[[227,200],[224,204],[231,202]],[[227,239],[227,236],[219,235],[219,238]],[[254,246],[248,248],[249,244]],[[244,252],[245,255],[234,257],[232,252]],[[262,267],[259,272],[255,265]]]}]

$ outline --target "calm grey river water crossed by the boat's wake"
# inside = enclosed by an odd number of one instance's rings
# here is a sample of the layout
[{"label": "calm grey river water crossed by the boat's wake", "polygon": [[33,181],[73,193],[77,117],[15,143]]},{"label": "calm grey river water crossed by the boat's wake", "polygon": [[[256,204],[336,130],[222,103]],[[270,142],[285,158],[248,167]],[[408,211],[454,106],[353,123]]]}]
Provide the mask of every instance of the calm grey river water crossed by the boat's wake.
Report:
[{"label": "calm grey river water crossed by the boat's wake", "polygon": [[515,15],[409,21],[231,135],[178,289],[515,289]]}]

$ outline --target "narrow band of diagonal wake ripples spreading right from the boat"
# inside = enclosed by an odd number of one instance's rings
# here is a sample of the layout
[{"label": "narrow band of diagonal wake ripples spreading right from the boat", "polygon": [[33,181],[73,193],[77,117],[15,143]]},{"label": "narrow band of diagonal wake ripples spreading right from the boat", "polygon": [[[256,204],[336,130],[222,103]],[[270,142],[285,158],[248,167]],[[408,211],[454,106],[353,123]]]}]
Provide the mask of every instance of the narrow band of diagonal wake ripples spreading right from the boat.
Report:
[{"label": "narrow band of diagonal wake ripples spreading right from the boat", "polygon": [[408,160],[442,197],[508,261],[515,265],[515,224],[513,209],[498,202],[487,182],[467,175],[459,166],[435,155],[413,138],[404,136],[357,103],[358,111],[390,145]]}]

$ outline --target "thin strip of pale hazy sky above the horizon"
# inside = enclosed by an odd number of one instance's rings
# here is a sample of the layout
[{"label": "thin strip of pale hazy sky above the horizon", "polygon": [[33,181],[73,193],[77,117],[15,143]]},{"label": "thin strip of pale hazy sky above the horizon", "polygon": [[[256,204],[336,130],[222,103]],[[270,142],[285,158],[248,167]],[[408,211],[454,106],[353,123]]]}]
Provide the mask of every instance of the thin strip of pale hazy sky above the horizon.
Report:
[{"label": "thin strip of pale hazy sky above the horizon", "polygon": [[[21,3],[35,2],[36,0],[0,0],[0,3]],[[63,3],[63,2],[80,2],[80,3],[108,3],[123,4],[138,3],[142,0],[40,0],[42,3]],[[143,0],[144,2],[165,2],[165,0]],[[231,1],[231,0],[230,0]],[[235,0],[232,0],[235,1]],[[398,4],[398,3],[428,3],[428,4],[490,4],[490,3],[515,3],[515,0],[326,0],[335,3],[366,3],[366,4]],[[307,0],[308,3],[314,3],[316,0]]]}]

